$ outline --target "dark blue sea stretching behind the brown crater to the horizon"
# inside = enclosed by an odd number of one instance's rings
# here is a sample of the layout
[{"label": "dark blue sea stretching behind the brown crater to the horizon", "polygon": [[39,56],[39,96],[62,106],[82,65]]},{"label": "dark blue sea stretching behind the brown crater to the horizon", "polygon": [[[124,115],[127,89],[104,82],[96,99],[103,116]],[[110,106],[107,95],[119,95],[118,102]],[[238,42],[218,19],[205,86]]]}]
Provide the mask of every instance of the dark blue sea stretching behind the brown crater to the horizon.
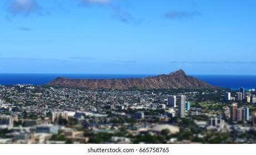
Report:
[{"label": "dark blue sea stretching behind the brown crater to the horizon", "polygon": [[[0,85],[33,84],[42,85],[62,76],[73,79],[123,79],[155,76],[154,74],[0,74]],[[239,87],[256,87],[256,75],[192,75],[211,85],[237,90]]]}]

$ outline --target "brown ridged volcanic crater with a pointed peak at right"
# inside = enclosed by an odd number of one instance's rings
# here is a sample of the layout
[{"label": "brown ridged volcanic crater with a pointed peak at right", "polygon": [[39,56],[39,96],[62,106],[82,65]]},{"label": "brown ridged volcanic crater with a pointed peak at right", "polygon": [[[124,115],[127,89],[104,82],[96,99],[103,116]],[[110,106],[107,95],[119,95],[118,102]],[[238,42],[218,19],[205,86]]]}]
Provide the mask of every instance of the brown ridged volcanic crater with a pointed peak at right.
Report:
[{"label": "brown ridged volcanic crater with a pointed peak at right", "polygon": [[126,90],[132,87],[141,89],[194,89],[194,88],[215,88],[207,82],[186,75],[182,69],[173,71],[170,74],[148,76],[144,78],[127,79],[69,79],[57,77],[45,85],[75,86],[88,89],[119,89]]}]

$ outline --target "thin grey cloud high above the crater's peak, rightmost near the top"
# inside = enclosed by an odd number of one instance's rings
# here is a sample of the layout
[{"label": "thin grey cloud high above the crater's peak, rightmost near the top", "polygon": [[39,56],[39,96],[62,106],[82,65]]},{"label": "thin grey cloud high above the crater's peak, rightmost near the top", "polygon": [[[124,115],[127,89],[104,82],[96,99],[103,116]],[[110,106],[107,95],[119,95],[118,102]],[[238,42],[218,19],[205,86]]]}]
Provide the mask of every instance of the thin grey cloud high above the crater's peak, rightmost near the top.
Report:
[{"label": "thin grey cloud high above the crater's peak, rightmost near the top", "polygon": [[164,17],[168,19],[183,19],[183,18],[193,18],[195,16],[202,16],[202,13],[197,11],[188,12],[188,11],[172,10],[170,12],[167,12]]}]

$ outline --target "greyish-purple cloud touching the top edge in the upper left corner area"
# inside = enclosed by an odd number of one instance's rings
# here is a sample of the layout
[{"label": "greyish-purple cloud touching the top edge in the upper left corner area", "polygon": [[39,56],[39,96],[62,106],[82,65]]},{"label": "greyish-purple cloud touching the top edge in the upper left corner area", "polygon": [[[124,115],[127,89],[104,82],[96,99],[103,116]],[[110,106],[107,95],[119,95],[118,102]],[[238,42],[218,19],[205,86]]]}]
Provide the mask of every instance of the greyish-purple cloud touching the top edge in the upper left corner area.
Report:
[{"label": "greyish-purple cloud touching the top edge in the upper left corner area", "polygon": [[29,16],[32,13],[37,13],[42,8],[35,0],[13,0],[8,2],[7,11],[12,15]]}]

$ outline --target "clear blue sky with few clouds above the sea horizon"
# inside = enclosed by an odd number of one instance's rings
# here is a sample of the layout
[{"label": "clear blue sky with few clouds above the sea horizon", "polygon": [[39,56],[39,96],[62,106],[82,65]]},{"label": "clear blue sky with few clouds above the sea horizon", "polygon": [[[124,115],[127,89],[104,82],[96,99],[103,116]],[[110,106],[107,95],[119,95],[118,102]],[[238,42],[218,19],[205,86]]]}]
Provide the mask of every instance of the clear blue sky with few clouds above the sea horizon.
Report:
[{"label": "clear blue sky with few clouds above the sea horizon", "polygon": [[3,0],[0,73],[256,75],[256,1]]}]

